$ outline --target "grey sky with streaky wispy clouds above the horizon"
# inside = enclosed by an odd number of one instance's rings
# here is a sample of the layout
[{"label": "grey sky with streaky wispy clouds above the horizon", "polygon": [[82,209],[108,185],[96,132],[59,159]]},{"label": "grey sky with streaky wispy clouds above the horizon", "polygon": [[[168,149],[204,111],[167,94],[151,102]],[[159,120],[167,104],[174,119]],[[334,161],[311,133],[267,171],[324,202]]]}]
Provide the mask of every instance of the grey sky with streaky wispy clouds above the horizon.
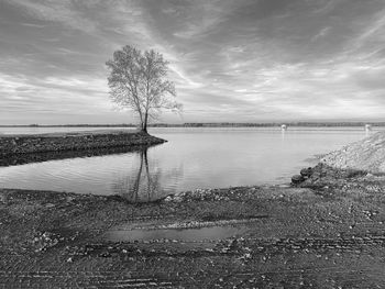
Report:
[{"label": "grey sky with streaky wispy clouds above the horizon", "polygon": [[0,0],[0,124],[135,122],[123,45],[169,62],[160,122],[385,120],[384,0]]}]

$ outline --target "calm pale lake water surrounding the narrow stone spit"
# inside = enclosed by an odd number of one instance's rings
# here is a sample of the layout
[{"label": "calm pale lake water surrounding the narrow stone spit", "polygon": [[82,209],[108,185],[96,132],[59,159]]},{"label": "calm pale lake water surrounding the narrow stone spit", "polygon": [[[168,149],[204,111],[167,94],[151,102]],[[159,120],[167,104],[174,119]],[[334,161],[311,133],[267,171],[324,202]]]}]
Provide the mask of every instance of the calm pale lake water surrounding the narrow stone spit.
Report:
[{"label": "calm pale lake water surrounding the narrow stone spit", "polygon": [[[59,130],[0,127],[0,133],[52,131]],[[145,152],[0,167],[0,187],[119,193],[145,201],[196,188],[287,184],[300,168],[317,163],[315,155],[367,135],[361,129],[308,127],[286,132],[279,127],[152,129],[150,133],[168,143]]]}]

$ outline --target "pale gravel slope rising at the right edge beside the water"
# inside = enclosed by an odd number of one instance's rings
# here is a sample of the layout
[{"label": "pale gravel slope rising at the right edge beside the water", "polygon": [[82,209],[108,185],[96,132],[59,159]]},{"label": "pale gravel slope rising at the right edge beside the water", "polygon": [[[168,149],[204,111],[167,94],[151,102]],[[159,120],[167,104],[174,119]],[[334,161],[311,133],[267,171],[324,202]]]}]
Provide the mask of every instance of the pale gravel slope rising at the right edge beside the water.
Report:
[{"label": "pale gravel slope rising at the right edge beside the water", "polygon": [[336,168],[385,173],[385,132],[326,155],[322,163]]}]

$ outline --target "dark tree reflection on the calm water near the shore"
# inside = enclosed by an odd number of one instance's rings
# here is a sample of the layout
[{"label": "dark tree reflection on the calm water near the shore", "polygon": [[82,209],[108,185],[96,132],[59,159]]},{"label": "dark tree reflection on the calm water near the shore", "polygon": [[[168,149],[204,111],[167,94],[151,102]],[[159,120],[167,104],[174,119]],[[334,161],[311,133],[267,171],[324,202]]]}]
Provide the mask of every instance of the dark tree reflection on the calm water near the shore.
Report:
[{"label": "dark tree reflection on the calm water near the shore", "polygon": [[[164,181],[172,180],[177,182],[183,169],[172,169],[163,174],[160,166],[154,166],[148,162],[148,147],[136,152],[139,158],[138,170],[132,171],[128,177],[119,179],[113,185],[113,191],[131,202],[145,202],[160,199],[166,194],[174,193],[176,186],[164,188]],[[153,165],[153,168],[151,168]],[[175,185],[175,184],[174,184]],[[174,187],[172,189],[170,187]]]}]

